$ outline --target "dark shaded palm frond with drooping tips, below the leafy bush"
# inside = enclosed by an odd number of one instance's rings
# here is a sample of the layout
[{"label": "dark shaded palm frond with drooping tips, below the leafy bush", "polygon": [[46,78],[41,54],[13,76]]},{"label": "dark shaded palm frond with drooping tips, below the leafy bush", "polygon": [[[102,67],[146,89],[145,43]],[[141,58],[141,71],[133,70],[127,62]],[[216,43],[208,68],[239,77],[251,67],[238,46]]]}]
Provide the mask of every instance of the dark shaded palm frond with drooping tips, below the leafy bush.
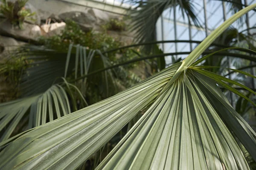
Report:
[{"label": "dark shaded palm frond with drooping tips, below the leafy bush", "polygon": [[[111,66],[108,57],[105,57],[99,50],[87,50],[86,47],[80,45],[71,44],[67,53],[32,45],[24,46],[23,51],[28,56],[26,59],[33,62],[22,77],[21,96],[43,93],[52,84],[61,82],[60,77],[68,78],[73,74],[76,79],[95,69]],[[108,82],[113,82],[113,75],[111,71],[105,71],[102,75],[108,81],[102,81],[101,85],[108,90],[106,86]],[[92,77],[89,78],[92,79]]]}]

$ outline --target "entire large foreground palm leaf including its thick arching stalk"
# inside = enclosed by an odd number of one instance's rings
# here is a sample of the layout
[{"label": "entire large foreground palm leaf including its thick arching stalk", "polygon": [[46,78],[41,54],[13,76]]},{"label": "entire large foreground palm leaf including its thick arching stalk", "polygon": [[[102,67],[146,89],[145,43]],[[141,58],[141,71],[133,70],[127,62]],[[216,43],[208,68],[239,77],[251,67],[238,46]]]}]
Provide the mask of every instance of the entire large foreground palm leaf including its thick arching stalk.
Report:
[{"label": "entire large foreground palm leaf including its thick arching stalk", "polygon": [[198,57],[228,26],[254,8],[256,4],[230,17],[183,62],[95,105],[0,143],[0,168],[76,169],[146,109],[97,169],[250,169],[240,145],[255,161],[256,133],[217,84],[254,107],[255,103],[227,83],[256,93],[205,70],[214,66],[198,66],[230,48]]}]

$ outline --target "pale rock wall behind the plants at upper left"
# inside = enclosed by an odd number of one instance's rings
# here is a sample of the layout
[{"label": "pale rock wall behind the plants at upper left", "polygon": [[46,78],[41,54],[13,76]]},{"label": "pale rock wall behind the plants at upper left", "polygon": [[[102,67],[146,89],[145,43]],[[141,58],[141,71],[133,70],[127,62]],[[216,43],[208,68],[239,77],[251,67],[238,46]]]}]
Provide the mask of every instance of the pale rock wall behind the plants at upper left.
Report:
[{"label": "pale rock wall behind the plants at upper left", "polygon": [[[90,8],[86,6],[87,3],[84,3],[85,1],[69,3],[61,0],[29,0],[25,8],[36,13],[33,16],[34,22],[25,22],[23,29],[20,29],[17,26],[12,26],[5,18],[0,17],[0,35],[12,37],[18,41],[36,43],[40,36],[49,37],[60,34],[61,30],[65,28],[64,22],[67,19],[74,20],[84,31],[93,30],[95,32],[103,32],[105,30],[102,28],[102,25],[108,23],[110,19],[122,20],[125,16],[124,14],[120,14],[120,10],[119,14],[117,14],[114,11],[109,12],[97,8]],[[81,3],[79,5],[78,2],[83,2],[84,6]],[[116,8],[121,8],[122,13],[126,10],[122,7]],[[109,30],[107,34],[116,40],[124,42],[125,45],[131,44],[134,37],[134,33],[129,31]],[[3,49],[0,49],[0,54],[1,51],[3,52]]]}]

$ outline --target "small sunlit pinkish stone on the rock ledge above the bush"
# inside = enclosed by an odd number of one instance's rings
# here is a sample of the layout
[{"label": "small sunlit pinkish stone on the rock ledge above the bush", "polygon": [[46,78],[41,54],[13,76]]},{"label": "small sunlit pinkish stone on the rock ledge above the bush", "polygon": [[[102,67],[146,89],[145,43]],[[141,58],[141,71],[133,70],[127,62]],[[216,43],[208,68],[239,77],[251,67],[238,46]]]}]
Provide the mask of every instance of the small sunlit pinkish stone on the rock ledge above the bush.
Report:
[{"label": "small sunlit pinkish stone on the rock ledge above the bush", "polygon": [[61,35],[61,31],[66,27],[66,23],[52,23],[44,24],[41,26],[42,35],[45,37],[51,37],[53,35]]}]

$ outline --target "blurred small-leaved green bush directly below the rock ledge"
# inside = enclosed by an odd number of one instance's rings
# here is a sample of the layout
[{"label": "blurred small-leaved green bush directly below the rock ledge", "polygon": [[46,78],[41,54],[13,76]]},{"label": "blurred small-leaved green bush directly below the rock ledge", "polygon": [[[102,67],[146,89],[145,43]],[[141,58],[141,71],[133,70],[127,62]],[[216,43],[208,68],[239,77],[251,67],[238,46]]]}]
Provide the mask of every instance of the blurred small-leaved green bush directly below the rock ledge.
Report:
[{"label": "blurred small-leaved green bush directly below the rock ledge", "polygon": [[[59,51],[67,51],[70,44],[79,44],[87,47],[87,49],[99,49],[100,51],[108,51],[122,47],[123,42],[114,39],[108,34],[95,33],[93,31],[84,32],[80,26],[72,21],[66,21],[66,27],[62,31],[61,35],[54,35],[52,37],[41,37],[40,43],[47,48],[52,48]],[[137,48],[128,48],[108,53],[109,59],[114,62],[128,61],[137,56],[134,53]],[[122,57],[118,57],[117,54],[122,54]]]}]

